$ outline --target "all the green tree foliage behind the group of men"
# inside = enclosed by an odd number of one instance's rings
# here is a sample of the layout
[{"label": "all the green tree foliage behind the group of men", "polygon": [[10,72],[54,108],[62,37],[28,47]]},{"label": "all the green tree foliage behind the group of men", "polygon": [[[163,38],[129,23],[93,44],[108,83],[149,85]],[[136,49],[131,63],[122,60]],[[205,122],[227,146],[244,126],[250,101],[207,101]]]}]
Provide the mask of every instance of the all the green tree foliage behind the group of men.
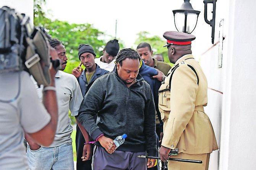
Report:
[{"label": "all the green tree foliage behind the group of men", "polygon": [[[90,44],[96,53],[96,57],[103,54],[103,48],[107,41],[112,40],[113,37],[106,35],[93,27],[92,24],[70,24],[66,21],[59,21],[46,17],[46,13],[42,10],[42,6],[46,4],[45,0],[34,0],[34,25],[41,26],[47,29],[52,38],[57,38],[62,41],[66,48],[68,57],[68,64],[65,72],[71,73],[73,68],[77,67],[80,63],[78,58],[79,44]],[[47,11],[47,14],[50,13]],[[169,62],[167,56],[167,49],[163,48],[165,40],[159,36],[149,37],[148,32],[139,32],[138,38],[134,44],[147,42],[151,45],[154,54],[162,54],[165,62]],[[123,48],[122,40],[119,41],[120,49]],[[136,49],[136,47],[133,47]]]}]

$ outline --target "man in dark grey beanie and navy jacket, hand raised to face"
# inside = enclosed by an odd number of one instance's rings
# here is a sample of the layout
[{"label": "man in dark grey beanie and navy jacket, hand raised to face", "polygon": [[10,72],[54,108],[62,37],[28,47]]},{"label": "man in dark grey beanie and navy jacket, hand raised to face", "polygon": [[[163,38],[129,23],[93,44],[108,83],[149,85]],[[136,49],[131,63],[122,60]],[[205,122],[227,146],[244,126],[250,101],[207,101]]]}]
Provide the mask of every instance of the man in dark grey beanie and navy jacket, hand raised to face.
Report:
[{"label": "man in dark grey beanie and navy jacket, hand raised to face", "polygon": [[[78,79],[78,83],[81,88],[81,92],[84,95],[87,93],[89,88],[92,86],[94,81],[106,74],[109,73],[109,71],[104,70],[99,67],[99,65],[95,64],[95,58],[96,54],[94,52],[94,49],[92,46],[88,44],[80,44],[78,47],[78,57],[79,60],[81,60],[81,63],[78,67],[74,68],[72,70],[72,74],[76,76]],[[81,67],[81,64],[84,65],[85,70]],[[96,121],[96,120],[95,120]],[[79,123],[79,121],[78,121]],[[91,170],[91,156],[92,156],[92,146],[91,144],[84,144],[91,141],[90,137],[85,137],[84,139],[83,134],[87,134],[87,132],[82,133],[80,130],[80,127],[82,130],[85,130],[81,124],[78,124],[79,126],[76,126],[76,169],[77,170]],[[89,159],[89,160],[88,160]]]}]

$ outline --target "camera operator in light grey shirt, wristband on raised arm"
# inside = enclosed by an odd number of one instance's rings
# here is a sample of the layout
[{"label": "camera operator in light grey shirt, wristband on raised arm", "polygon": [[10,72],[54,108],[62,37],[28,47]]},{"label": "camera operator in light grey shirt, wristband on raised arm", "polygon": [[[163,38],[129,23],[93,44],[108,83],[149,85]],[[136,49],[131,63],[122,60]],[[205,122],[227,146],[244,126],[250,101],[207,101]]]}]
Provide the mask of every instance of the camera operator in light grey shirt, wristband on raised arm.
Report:
[{"label": "camera operator in light grey shirt, wristband on raised arm", "polygon": [[[53,60],[58,58],[54,48],[50,49],[50,56]],[[51,84],[44,87],[42,102],[28,72],[0,74],[1,169],[29,170],[24,132],[40,145],[52,143],[58,121],[56,72],[50,68]]]}]

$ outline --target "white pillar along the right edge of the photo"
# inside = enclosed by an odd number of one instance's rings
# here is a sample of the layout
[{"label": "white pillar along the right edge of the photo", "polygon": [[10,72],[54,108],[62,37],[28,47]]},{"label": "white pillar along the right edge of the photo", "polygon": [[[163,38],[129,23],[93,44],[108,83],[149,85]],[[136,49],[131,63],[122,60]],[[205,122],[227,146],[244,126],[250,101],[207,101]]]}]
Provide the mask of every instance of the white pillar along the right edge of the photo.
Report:
[{"label": "white pillar along the right edge of the photo", "polygon": [[229,128],[229,133],[222,129],[222,147],[227,149],[220,154],[221,169],[255,169],[255,6],[255,0],[230,0],[227,82],[224,85],[227,93],[223,106],[227,116],[222,123]]}]

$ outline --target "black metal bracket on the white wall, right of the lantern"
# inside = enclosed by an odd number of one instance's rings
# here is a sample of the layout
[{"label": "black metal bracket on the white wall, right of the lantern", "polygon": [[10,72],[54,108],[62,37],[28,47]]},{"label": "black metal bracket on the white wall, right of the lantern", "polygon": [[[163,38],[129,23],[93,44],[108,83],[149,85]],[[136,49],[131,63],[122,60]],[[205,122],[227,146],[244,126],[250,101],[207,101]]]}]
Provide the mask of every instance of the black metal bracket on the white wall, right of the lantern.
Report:
[{"label": "black metal bracket on the white wall, right of the lantern", "polygon": [[[212,27],[212,44],[214,44],[214,30],[215,30],[215,10],[216,10],[216,2],[217,0],[204,0],[204,21],[207,24],[210,24]],[[207,4],[212,3],[212,19],[208,21],[207,19]]]}]

